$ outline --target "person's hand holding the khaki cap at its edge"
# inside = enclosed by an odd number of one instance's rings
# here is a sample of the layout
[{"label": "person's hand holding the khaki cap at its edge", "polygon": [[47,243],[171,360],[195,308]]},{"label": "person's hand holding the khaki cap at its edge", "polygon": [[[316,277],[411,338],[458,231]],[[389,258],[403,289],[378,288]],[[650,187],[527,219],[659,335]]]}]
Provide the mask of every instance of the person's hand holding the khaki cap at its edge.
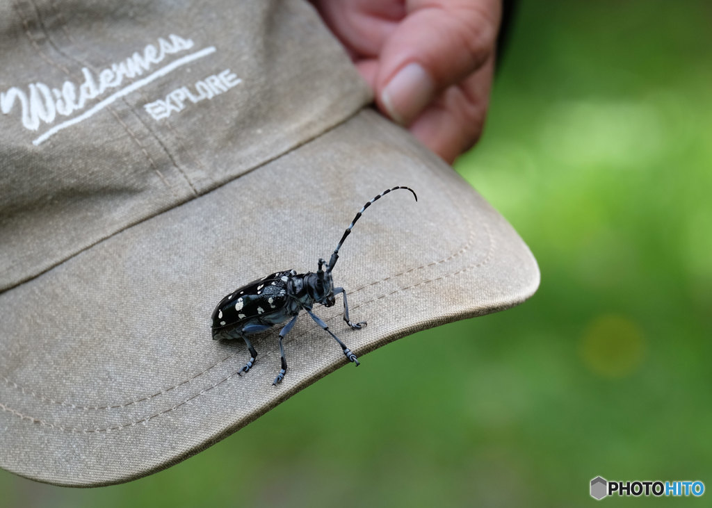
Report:
[{"label": "person's hand holding the khaki cap at its edge", "polygon": [[379,110],[447,162],[479,139],[501,0],[313,0]]}]

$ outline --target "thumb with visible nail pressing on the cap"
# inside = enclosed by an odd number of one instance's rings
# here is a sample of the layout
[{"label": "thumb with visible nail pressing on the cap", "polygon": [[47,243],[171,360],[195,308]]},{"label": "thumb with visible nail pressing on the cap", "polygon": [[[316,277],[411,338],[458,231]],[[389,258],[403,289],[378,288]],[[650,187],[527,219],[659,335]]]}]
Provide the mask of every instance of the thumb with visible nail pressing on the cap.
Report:
[{"label": "thumb with visible nail pressing on the cap", "polygon": [[379,56],[379,108],[410,125],[434,97],[490,58],[500,16],[498,0],[412,0]]}]

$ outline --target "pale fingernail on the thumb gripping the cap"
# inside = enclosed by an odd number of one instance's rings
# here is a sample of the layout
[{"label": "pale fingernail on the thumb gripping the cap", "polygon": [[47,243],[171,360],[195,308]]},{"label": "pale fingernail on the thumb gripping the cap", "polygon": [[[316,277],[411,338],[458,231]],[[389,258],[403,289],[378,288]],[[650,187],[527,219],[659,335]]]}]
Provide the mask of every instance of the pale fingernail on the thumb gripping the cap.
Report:
[{"label": "pale fingernail on the thumb gripping the cap", "polygon": [[381,92],[388,115],[400,125],[409,125],[435,96],[435,82],[419,63],[409,63]]}]

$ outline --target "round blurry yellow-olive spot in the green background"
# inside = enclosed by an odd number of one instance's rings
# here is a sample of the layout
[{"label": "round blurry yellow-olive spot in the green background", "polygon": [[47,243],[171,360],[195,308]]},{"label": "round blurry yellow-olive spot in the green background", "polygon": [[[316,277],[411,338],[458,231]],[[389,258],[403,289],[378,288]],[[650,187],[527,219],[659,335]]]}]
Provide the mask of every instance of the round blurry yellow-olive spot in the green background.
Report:
[{"label": "round blurry yellow-olive spot in the green background", "polygon": [[607,378],[632,374],[643,358],[640,327],[624,316],[604,314],[589,324],[581,337],[581,355],[586,366]]}]

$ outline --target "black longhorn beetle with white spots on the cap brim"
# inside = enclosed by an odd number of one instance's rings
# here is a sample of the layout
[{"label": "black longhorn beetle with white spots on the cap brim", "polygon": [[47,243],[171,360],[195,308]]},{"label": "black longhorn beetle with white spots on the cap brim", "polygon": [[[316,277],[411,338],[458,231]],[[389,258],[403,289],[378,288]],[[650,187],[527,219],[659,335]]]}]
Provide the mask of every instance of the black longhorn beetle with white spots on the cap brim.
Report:
[{"label": "black longhorn beetle with white spots on the cap brim", "polygon": [[335,295],[341,293],[344,295],[344,321],[346,324],[353,329],[360,329],[365,326],[365,321],[359,323],[352,323],[350,321],[346,292],[343,287],[334,287],[331,272],[334,269],[334,265],[336,265],[336,261],[339,259],[339,249],[341,245],[344,243],[344,240],[346,240],[346,237],[349,236],[349,233],[351,233],[351,229],[354,227],[356,221],[359,220],[361,214],[366,208],[371,206],[374,201],[377,201],[382,196],[396,189],[411,191],[415,197],[415,201],[418,201],[418,196],[413,189],[397,186],[383,191],[366,203],[363,208],[361,208],[361,211],[356,214],[350,226],[344,231],[344,235],[341,237],[339,244],[331,255],[329,264],[326,265],[326,270],[323,270],[326,264],[325,260],[320,259],[319,268],[316,273],[297,273],[295,270],[275,272],[261,279],[254,280],[243,287],[239,287],[220,301],[212,314],[213,339],[244,339],[251,355],[250,360],[238,371],[238,374],[242,375],[243,372],[249,371],[257,358],[257,351],[255,351],[255,348],[252,346],[250,339],[248,339],[248,335],[263,332],[275,324],[285,322],[291,318],[282,328],[281,332],[279,332],[279,350],[282,354],[282,369],[272,384],[276,386],[277,383],[281,383],[287,372],[287,360],[284,357],[282,341],[294,326],[297,316],[302,310],[305,310],[307,314],[314,319],[316,324],[325,329],[325,331],[338,342],[349,361],[352,361],[357,366],[359,365],[356,355],[331,332],[325,322],[312,312],[312,307],[315,303],[319,303],[324,307],[331,307],[335,303]]}]

